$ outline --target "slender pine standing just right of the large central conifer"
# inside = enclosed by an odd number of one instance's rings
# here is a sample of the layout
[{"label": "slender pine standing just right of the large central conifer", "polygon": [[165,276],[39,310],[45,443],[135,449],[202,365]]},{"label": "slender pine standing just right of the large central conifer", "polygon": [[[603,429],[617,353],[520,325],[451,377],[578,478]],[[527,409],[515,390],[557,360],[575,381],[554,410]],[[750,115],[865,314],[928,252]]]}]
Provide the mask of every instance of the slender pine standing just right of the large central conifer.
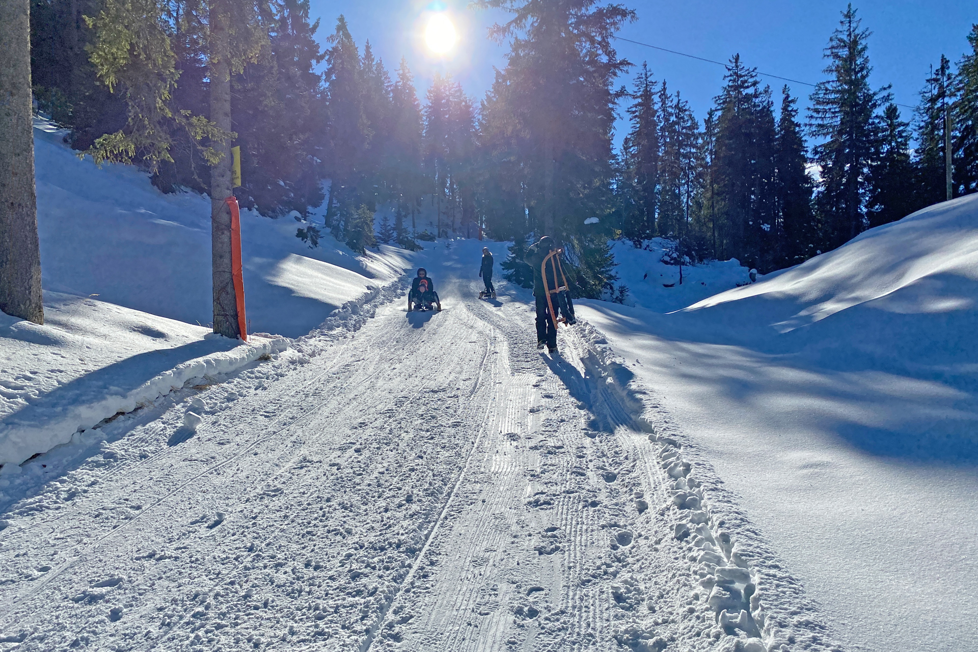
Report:
[{"label": "slender pine standing just right of the large central conifer", "polygon": [[624,162],[624,236],[635,246],[652,238],[656,232],[659,185],[659,119],[655,107],[655,88],[648,65],[635,80],[635,100],[628,109],[631,131],[622,146]]}]

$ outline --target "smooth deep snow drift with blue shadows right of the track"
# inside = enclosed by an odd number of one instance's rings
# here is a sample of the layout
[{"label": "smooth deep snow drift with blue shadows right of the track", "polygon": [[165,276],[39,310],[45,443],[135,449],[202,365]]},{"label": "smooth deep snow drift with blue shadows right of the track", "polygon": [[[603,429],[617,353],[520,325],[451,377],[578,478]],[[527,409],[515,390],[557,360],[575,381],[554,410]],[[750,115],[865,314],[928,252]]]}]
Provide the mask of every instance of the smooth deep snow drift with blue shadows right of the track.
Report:
[{"label": "smooth deep snow drift with blue shadows right of the track", "polygon": [[671,315],[587,302],[855,649],[978,647],[978,196]]}]

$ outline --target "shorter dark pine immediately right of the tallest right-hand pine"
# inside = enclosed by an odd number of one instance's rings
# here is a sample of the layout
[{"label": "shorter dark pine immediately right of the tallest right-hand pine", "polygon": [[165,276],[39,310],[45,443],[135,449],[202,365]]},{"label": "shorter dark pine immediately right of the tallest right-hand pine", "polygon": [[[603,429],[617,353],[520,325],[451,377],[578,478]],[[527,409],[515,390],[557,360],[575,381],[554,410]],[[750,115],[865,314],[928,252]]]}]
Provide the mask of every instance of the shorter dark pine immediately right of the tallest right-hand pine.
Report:
[{"label": "shorter dark pine immediately right of the tallest right-hand pine", "polygon": [[869,173],[870,228],[903,219],[918,207],[909,183],[913,178],[910,140],[909,124],[900,119],[900,109],[890,104],[883,111],[880,151]]}]

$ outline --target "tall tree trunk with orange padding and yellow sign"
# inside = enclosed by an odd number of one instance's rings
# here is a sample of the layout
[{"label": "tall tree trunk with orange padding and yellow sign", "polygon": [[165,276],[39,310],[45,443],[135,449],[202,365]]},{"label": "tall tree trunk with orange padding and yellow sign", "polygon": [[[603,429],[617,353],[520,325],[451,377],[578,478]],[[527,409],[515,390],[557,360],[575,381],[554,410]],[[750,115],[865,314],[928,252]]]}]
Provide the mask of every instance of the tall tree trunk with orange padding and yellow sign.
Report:
[{"label": "tall tree trunk with orange padding and yellow sign", "polygon": [[[211,0],[210,19],[210,119],[219,129],[231,131],[231,75],[228,63],[228,14],[224,3]],[[210,168],[210,256],[214,293],[214,332],[241,336],[238,303],[231,275],[231,210],[224,199],[231,186],[231,143],[211,143],[221,159]]]}]

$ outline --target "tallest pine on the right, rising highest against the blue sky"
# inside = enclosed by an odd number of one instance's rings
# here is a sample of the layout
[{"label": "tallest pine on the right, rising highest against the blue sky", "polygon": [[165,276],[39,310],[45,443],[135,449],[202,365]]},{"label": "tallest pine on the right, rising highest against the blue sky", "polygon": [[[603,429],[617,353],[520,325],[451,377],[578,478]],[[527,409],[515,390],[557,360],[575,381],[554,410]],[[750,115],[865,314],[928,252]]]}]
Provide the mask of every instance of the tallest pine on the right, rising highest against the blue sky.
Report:
[{"label": "tallest pine on the right, rising highest against the blue sky", "polygon": [[866,227],[869,168],[879,148],[876,112],[889,103],[889,87],[869,87],[869,31],[861,29],[850,4],[825,48],[829,61],[812,94],[812,136],[825,139],[814,149],[821,167],[816,206],[822,221],[822,250],[855,238]]}]

